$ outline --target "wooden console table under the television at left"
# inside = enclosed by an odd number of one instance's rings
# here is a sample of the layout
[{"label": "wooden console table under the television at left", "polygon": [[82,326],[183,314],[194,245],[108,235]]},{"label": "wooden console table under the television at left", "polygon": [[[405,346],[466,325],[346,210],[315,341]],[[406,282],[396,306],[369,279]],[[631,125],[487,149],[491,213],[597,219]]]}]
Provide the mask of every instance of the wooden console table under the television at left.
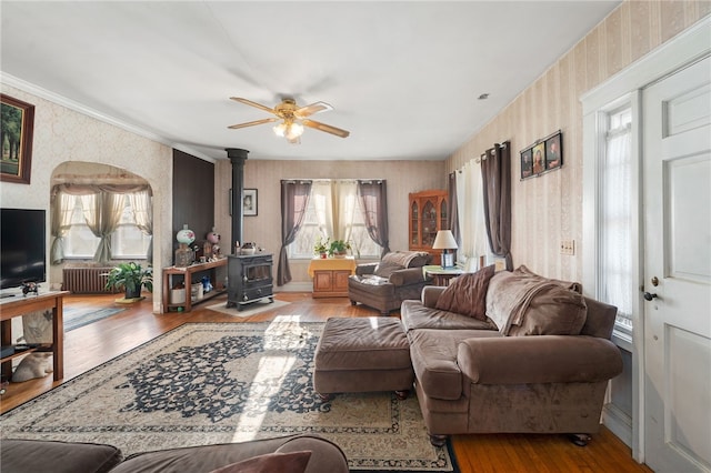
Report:
[{"label": "wooden console table under the television at left", "polygon": [[63,298],[69,291],[49,291],[39,295],[18,294],[12,298],[0,300],[0,336],[2,346],[13,345],[12,343],[12,319],[30,312],[52,310],[52,343],[39,344],[27,350],[16,351],[16,353],[0,359],[2,364],[2,375],[9,380],[12,378],[12,360],[37,351],[52,351],[52,363],[54,369],[54,381],[64,378],[64,315]]}]

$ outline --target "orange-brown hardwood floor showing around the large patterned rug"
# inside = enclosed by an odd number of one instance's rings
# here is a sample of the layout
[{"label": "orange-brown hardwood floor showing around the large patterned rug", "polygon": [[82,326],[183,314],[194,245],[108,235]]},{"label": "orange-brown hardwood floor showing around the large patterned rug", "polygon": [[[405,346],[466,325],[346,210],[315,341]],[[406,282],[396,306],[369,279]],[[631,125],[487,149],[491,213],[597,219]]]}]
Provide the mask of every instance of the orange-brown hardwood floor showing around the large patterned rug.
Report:
[{"label": "orange-brown hardwood floor showing around the large patterned rug", "polygon": [[[70,295],[64,306],[113,306],[116,294]],[[214,303],[226,295],[216,298]],[[312,299],[311,293],[277,294],[291,302],[290,315],[308,322],[330,316],[373,316],[374,310],[352,306],[347,298]],[[212,304],[212,302],[210,303]],[[263,322],[274,318],[269,311],[238,319],[197,305],[190,313],[153,314],[150,295],[108,319],[64,334],[64,380],[68,381],[186,322]],[[393,312],[391,316],[398,316]],[[24,383],[10,383],[0,399],[0,412],[7,412],[61,382],[52,376]],[[563,435],[491,434],[454,435],[452,445],[462,473],[468,472],[651,472],[632,460],[630,449],[608,429],[593,435],[588,446],[574,445]]]}]

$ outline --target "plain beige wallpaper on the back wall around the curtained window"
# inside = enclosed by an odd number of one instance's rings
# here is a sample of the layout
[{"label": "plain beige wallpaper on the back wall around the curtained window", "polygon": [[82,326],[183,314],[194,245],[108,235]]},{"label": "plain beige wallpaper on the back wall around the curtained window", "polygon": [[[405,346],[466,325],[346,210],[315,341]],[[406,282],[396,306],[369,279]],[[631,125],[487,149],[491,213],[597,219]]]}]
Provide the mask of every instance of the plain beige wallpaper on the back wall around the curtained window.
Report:
[{"label": "plain beige wallpaper on the back wall around the curtained window", "polygon": [[[223,239],[230,234],[228,193],[232,182],[232,164],[217,163],[216,224]],[[244,188],[258,190],[258,215],[244,217],[244,240],[256,241],[267,251],[279,254],[281,248],[280,180],[282,179],[385,179],[388,181],[388,217],[390,248],[408,248],[408,193],[427,189],[445,189],[443,161],[268,161],[247,160]],[[227,241],[226,241],[227,243]],[[232,242],[231,244],[234,244]],[[296,283],[311,283],[308,261],[291,264]],[[274,266],[274,272],[277,268]],[[289,288],[286,288],[289,289]],[[296,288],[294,288],[296,289]]]}]

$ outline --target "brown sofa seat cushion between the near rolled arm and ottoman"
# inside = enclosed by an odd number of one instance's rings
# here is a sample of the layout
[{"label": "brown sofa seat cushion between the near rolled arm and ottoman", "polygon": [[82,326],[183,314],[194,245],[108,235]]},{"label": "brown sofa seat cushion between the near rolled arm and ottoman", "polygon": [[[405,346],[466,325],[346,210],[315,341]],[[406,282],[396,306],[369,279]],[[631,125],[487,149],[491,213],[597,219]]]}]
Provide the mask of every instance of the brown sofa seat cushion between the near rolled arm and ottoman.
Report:
[{"label": "brown sofa seat cushion between the near rolled arm and ottoman", "polygon": [[457,350],[460,342],[475,336],[501,335],[491,330],[421,329],[408,332],[414,375],[428,396],[451,401],[461,397],[464,381],[457,363]]}]

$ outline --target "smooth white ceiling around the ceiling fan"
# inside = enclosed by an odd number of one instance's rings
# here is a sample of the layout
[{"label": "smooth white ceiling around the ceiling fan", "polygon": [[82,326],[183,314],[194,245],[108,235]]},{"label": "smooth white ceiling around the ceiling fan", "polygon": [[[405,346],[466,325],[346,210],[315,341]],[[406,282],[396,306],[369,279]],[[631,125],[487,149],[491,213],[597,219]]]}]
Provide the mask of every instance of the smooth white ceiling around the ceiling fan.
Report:
[{"label": "smooth white ceiling around the ceiling fan", "polygon": [[[442,160],[619,3],[3,0],[2,81],[202,158]],[[351,135],[229,130],[269,117],[230,97]]]}]

